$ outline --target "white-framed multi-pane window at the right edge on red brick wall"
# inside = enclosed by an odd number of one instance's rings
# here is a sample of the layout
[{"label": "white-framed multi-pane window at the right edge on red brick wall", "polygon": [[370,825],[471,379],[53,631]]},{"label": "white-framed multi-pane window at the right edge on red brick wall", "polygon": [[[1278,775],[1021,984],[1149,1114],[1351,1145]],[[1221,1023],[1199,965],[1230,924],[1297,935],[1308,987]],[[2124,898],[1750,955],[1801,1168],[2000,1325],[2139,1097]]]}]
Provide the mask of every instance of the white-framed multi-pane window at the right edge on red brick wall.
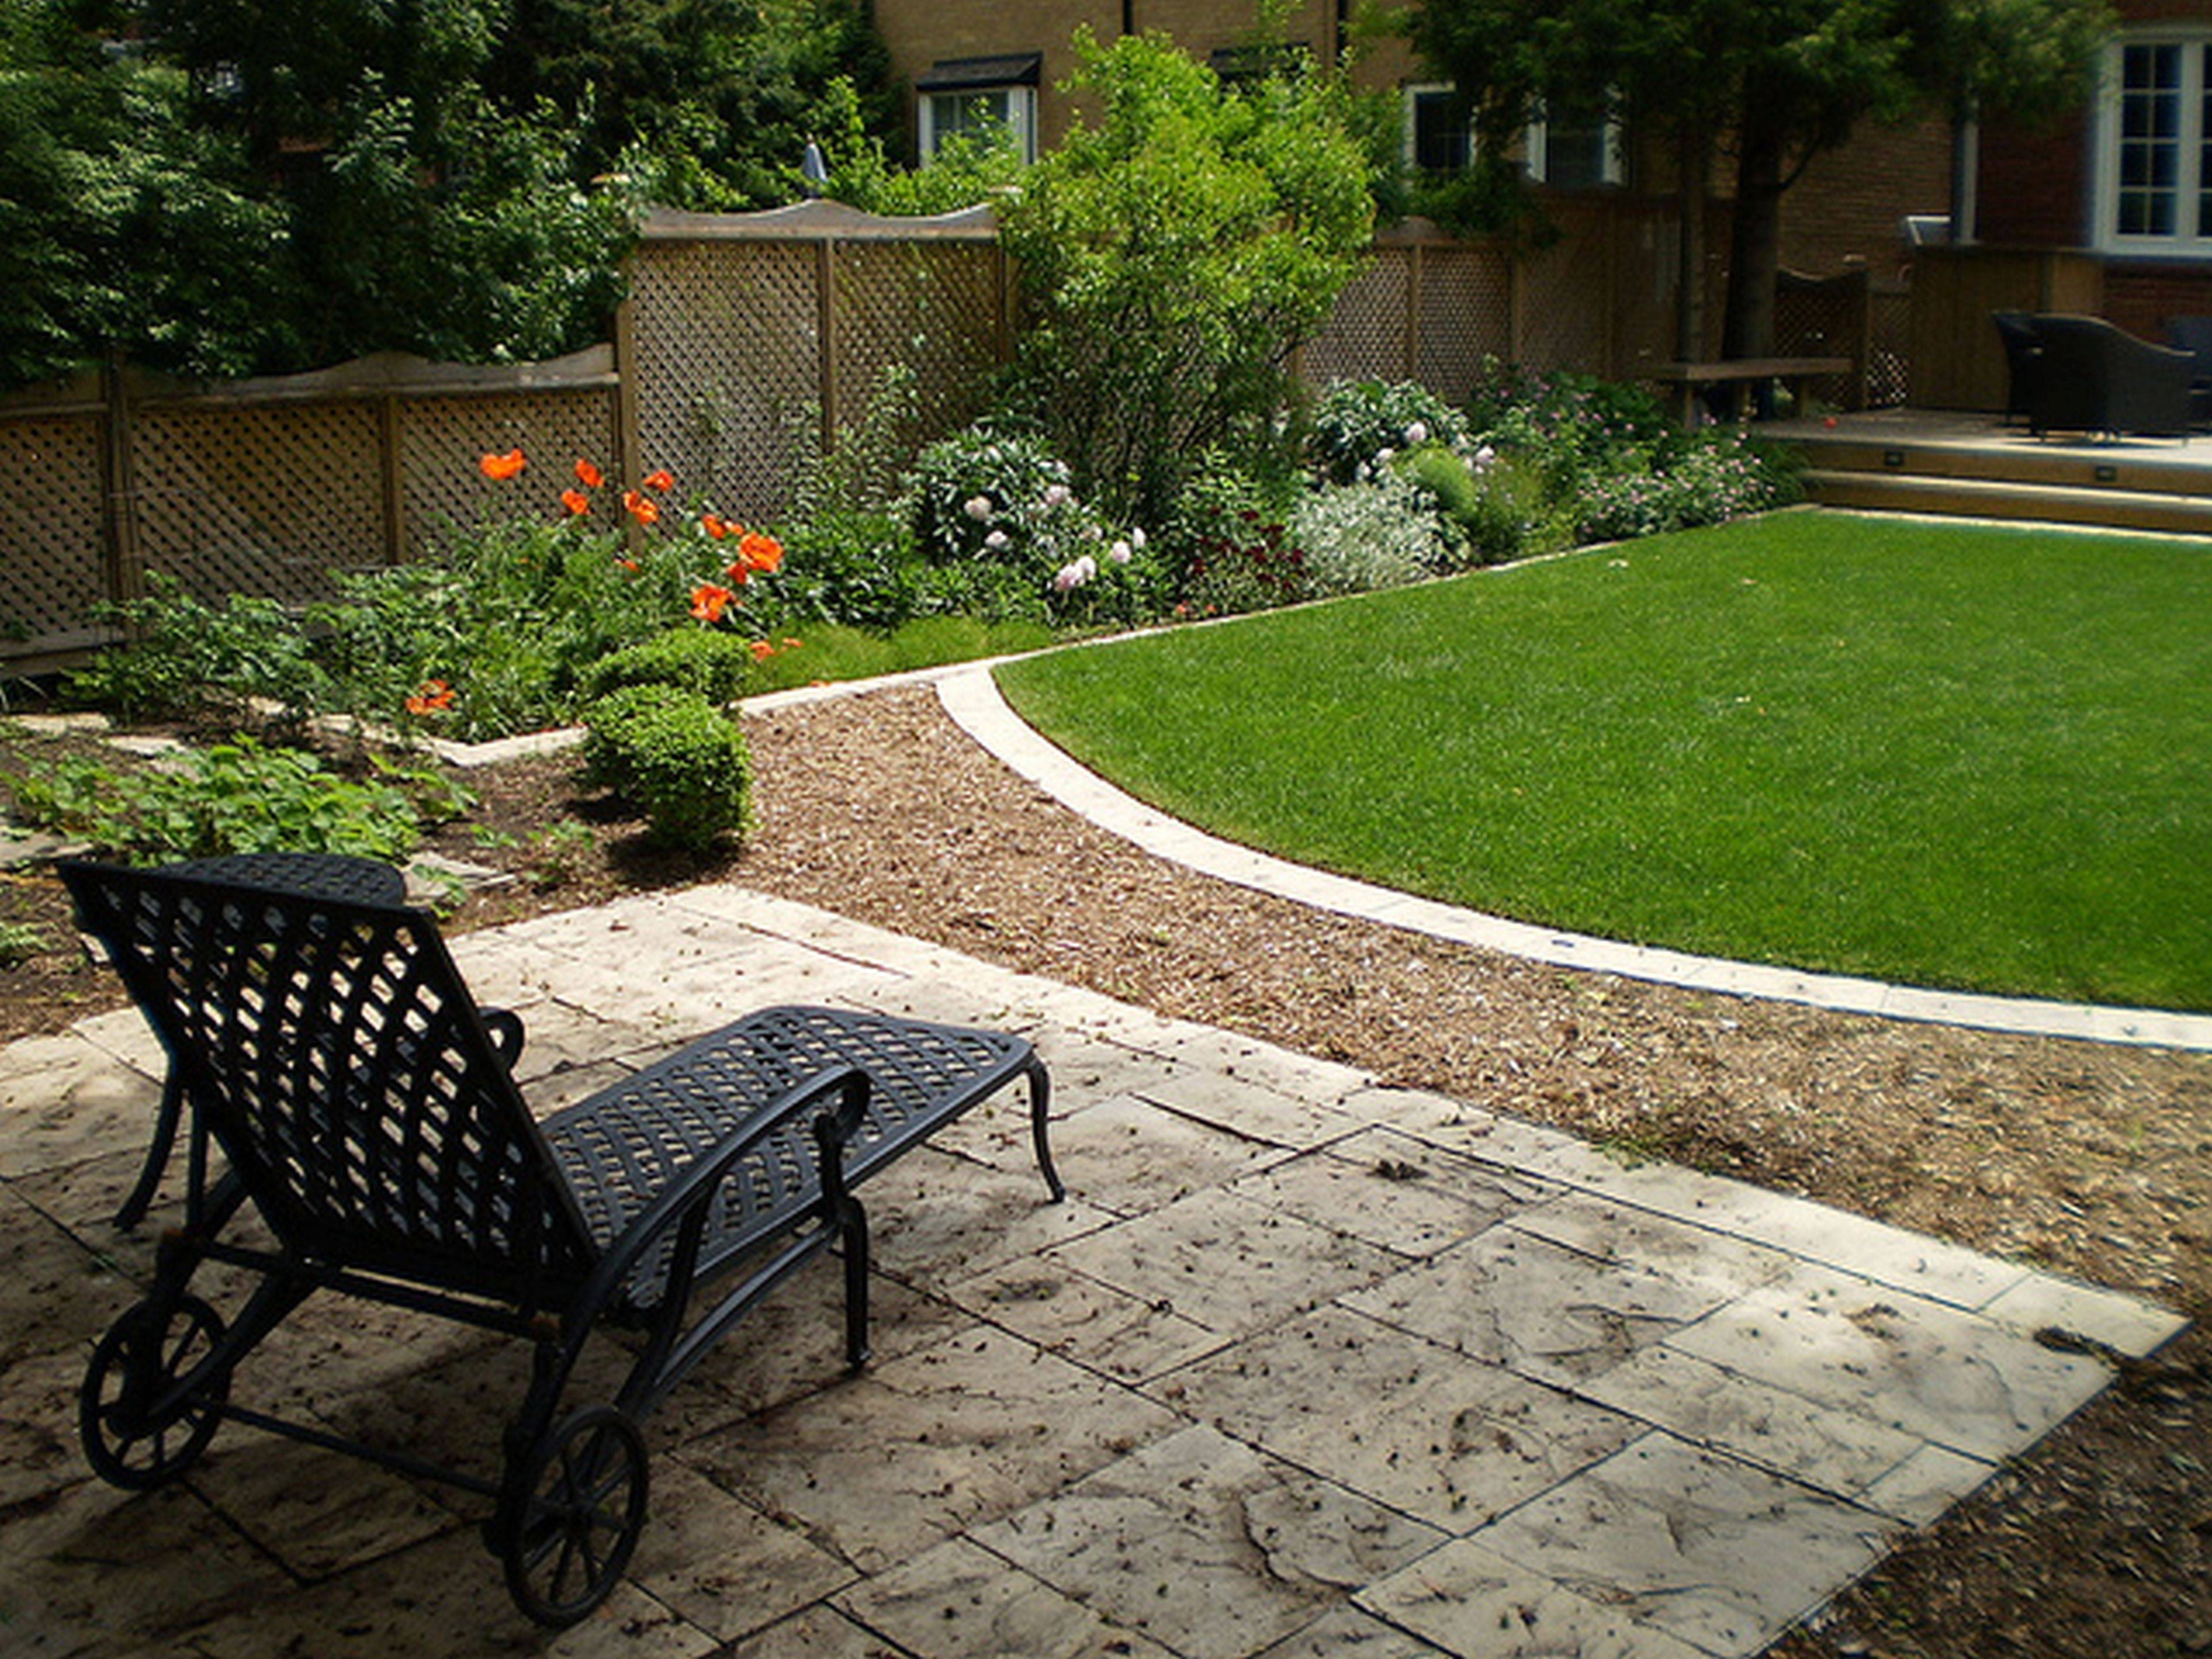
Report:
[{"label": "white-framed multi-pane window at the right edge on red brick wall", "polygon": [[2097,230],[2106,252],[2212,257],[2212,31],[2128,31],[2097,100]]}]

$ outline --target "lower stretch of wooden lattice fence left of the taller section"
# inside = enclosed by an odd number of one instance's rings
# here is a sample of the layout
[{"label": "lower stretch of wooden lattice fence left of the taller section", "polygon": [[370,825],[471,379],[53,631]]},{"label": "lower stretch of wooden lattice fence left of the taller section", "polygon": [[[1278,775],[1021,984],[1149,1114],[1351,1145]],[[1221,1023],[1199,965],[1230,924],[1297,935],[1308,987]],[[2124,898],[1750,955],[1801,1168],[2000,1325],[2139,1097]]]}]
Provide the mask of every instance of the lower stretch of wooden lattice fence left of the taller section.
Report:
[{"label": "lower stretch of wooden lattice fence left of the taller section", "polygon": [[117,367],[0,400],[0,653],[100,644],[148,573],[303,606],[491,507],[487,449],[608,458],[611,347],[460,367],[387,354],[188,387]]}]

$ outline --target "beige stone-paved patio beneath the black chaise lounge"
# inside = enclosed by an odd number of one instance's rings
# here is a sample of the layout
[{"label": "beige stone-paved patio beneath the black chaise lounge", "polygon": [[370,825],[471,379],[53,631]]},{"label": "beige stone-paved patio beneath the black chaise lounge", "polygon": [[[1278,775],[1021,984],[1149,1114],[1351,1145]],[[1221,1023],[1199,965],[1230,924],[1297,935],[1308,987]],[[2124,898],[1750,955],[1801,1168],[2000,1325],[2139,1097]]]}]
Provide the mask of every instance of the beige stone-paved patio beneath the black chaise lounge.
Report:
[{"label": "beige stone-paved patio beneath the black chaise lounge", "polygon": [[[779,1292],[648,1425],[628,1584],[549,1637],[436,1484],[241,1427],[157,1493],[84,1471],[159,1055],[133,1013],[13,1044],[9,1655],[1754,1655],[2181,1323],[732,887],[456,956],[546,1108],[763,1002],[1020,1029],[1068,1201],[1018,1095],[869,1183],[874,1365],[834,1265]],[[489,1473],[520,1378],[321,1301],[234,1398]]]}]

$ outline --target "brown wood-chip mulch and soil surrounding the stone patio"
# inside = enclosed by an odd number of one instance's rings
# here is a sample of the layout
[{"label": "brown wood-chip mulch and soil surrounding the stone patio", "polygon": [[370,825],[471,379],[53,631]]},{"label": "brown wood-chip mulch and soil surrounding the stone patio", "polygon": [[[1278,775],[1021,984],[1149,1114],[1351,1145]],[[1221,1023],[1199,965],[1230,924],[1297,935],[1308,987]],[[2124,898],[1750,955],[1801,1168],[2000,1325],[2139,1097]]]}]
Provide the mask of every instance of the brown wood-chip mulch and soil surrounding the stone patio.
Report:
[{"label": "brown wood-chip mulch and soil surrounding the stone patio", "polygon": [[[670,858],[566,759],[469,774],[436,847],[524,880],[456,929],[734,880],[1630,1152],[2212,1314],[2212,1055],[1741,1002],[1517,962],[1166,865],[980,752],[927,690],[748,719],[759,832]],[[0,728],[0,772],[24,741]],[[49,748],[49,745],[40,745]],[[573,843],[549,825],[580,823]],[[0,874],[0,1040],[122,998],[58,883]],[[2192,1329],[1889,1557],[1785,1659],[2212,1655],[2212,1338]]]}]

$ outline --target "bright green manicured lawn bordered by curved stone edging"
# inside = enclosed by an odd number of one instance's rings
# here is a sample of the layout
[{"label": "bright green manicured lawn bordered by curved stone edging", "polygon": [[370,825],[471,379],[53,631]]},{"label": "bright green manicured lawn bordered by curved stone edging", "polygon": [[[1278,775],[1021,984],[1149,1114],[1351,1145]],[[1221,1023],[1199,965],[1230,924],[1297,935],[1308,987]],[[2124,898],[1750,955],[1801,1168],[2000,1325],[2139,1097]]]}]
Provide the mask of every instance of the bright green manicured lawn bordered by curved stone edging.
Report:
[{"label": "bright green manicured lawn bordered by curved stone edging", "polygon": [[2212,546],[1783,513],[1009,664],[1217,834],[1608,938],[2212,1009]]}]

